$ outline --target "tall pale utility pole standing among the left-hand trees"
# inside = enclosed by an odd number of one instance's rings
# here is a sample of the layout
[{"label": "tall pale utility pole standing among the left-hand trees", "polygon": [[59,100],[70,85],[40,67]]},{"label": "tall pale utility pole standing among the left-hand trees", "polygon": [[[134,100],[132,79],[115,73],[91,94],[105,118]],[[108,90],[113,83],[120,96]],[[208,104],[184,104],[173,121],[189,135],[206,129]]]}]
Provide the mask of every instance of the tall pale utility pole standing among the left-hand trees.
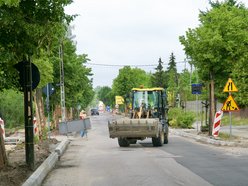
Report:
[{"label": "tall pale utility pole standing among the left-hand trees", "polygon": [[62,122],[65,122],[65,84],[64,84],[64,59],[63,59],[63,41],[61,41],[59,47],[59,58],[60,58],[60,96],[61,96],[61,116]]}]

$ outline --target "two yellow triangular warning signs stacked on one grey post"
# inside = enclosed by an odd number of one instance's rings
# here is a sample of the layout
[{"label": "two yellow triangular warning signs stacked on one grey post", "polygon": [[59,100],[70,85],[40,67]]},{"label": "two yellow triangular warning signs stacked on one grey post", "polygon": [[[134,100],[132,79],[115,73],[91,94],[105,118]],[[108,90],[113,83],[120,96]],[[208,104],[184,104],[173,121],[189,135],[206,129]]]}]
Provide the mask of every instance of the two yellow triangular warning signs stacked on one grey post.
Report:
[{"label": "two yellow triangular warning signs stacked on one grey post", "polygon": [[232,92],[238,92],[237,87],[235,86],[234,82],[231,78],[228,79],[223,92],[228,92],[229,96],[224,102],[221,110],[223,112],[229,112],[229,119],[230,119],[230,137],[232,136],[232,112],[239,111],[239,107],[235,100],[232,97]]}]

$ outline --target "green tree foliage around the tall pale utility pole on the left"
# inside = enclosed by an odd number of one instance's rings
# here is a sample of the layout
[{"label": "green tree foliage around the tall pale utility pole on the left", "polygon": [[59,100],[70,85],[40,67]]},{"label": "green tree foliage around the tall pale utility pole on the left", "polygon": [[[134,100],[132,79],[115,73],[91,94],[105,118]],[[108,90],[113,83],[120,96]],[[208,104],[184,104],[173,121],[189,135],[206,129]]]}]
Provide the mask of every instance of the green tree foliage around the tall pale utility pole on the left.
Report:
[{"label": "green tree foliage around the tall pale utility pole on the left", "polygon": [[[58,54],[58,48],[54,51],[54,56],[55,54]],[[92,82],[89,79],[92,75],[91,69],[84,65],[89,59],[85,54],[77,55],[76,46],[69,39],[63,42],[63,54],[66,107],[76,109],[80,105],[81,108],[86,108],[94,97]],[[60,82],[60,59],[58,57],[53,57],[51,61],[55,84]],[[51,102],[54,105],[60,104],[59,86],[55,86],[55,94],[51,96]]]}]

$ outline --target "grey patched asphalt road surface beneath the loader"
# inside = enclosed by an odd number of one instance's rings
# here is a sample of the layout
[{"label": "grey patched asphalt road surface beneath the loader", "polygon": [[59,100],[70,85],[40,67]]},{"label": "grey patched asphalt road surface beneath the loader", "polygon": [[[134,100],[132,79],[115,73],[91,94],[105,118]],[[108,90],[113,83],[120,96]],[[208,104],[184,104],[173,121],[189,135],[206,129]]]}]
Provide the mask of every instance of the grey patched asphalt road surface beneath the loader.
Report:
[{"label": "grey patched asphalt road surface beneath the loader", "polygon": [[108,136],[111,115],[91,118],[88,137],[75,137],[44,186],[247,185],[248,157],[170,136],[155,148],[151,139],[120,148]]}]

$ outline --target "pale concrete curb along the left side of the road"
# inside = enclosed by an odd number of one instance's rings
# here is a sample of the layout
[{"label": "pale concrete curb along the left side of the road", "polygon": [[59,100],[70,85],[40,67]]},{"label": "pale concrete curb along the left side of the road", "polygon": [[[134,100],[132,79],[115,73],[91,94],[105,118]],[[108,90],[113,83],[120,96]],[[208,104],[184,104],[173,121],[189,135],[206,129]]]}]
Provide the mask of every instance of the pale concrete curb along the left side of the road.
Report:
[{"label": "pale concrete curb along the left side of the road", "polygon": [[22,184],[22,186],[40,186],[47,174],[54,168],[55,164],[66,150],[69,140],[63,140],[55,152],[52,152],[48,158],[36,169],[36,171]]}]

